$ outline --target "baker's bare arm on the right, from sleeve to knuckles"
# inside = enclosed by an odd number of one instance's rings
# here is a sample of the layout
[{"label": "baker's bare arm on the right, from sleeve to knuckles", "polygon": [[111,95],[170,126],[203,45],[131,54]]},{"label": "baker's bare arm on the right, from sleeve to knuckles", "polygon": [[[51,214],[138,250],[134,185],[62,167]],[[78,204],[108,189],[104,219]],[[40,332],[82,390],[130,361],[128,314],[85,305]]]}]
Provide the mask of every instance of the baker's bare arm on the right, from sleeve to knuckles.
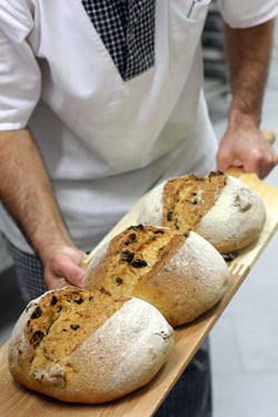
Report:
[{"label": "baker's bare arm on the right, from sleeve to knuckles", "polygon": [[272,32],[272,20],[248,29],[231,29],[224,23],[232,101],[217,155],[218,169],[222,171],[240,166],[264,178],[278,162],[271,146],[260,133]]}]

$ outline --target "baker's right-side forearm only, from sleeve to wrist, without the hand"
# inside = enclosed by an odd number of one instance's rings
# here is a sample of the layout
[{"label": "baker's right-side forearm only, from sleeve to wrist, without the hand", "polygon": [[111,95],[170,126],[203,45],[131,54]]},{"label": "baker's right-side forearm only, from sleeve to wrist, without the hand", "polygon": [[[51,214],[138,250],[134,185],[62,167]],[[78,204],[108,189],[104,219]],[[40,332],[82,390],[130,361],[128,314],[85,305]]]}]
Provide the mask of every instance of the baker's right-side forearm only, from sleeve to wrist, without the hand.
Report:
[{"label": "baker's right-side forearm only, from sleeve to wrist, without the hand", "polygon": [[232,103],[229,123],[261,122],[264,91],[272,47],[274,21],[248,29],[224,24]]}]

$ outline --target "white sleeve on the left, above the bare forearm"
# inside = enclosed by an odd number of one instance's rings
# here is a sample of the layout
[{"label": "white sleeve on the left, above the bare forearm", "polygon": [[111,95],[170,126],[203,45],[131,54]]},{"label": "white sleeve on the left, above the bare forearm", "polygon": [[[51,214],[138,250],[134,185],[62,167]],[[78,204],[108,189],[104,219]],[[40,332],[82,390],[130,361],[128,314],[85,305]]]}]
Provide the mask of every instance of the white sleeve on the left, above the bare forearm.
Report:
[{"label": "white sleeve on the left, above the bare forearm", "polygon": [[28,42],[32,24],[24,1],[1,0],[0,130],[26,127],[40,97],[40,69]]}]

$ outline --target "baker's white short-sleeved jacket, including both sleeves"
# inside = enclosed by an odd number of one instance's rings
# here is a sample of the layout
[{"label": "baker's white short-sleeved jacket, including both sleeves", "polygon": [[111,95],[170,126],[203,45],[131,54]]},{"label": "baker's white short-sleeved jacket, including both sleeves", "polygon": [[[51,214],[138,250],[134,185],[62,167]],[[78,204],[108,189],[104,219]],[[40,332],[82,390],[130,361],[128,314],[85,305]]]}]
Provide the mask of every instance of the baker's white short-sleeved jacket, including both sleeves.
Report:
[{"label": "baker's white short-sleeved jacket, including both sleeves", "polygon": [[[81,0],[0,0],[0,129],[29,126],[78,247],[90,250],[156,182],[215,168],[200,34],[209,0],[158,0],[156,62],[123,81]],[[232,27],[277,0],[222,0]],[[190,16],[188,16],[191,9]],[[9,215],[0,229],[31,252]]]}]

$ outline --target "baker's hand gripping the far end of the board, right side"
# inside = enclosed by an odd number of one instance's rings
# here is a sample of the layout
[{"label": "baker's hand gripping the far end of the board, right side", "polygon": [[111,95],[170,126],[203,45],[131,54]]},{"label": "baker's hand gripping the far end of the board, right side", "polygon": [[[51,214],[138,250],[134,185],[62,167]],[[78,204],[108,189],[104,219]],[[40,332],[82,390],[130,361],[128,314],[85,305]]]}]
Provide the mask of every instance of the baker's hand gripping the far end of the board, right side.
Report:
[{"label": "baker's hand gripping the far end of the board, right side", "polygon": [[228,128],[219,145],[217,168],[241,167],[265,178],[278,163],[278,156],[264,135],[255,127]]}]

